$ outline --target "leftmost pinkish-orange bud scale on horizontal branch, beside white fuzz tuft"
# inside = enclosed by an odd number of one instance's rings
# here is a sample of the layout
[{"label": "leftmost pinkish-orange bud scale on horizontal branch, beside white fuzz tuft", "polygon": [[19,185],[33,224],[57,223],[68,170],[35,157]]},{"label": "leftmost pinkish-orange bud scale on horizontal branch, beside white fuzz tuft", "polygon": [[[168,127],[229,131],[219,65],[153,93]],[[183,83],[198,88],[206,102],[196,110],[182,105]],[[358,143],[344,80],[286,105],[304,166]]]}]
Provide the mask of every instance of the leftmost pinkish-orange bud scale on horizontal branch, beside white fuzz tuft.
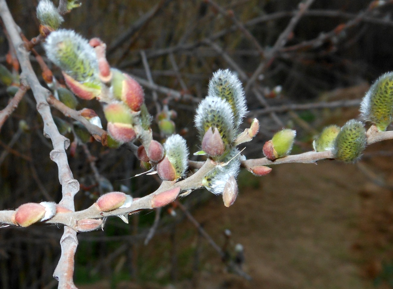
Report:
[{"label": "leftmost pinkish-orange bud scale on horizontal branch, beside white fuzz tuft", "polygon": [[37,203],[27,203],[20,205],[14,215],[14,222],[22,227],[28,227],[31,224],[40,221],[45,216],[46,210],[43,205]]}]

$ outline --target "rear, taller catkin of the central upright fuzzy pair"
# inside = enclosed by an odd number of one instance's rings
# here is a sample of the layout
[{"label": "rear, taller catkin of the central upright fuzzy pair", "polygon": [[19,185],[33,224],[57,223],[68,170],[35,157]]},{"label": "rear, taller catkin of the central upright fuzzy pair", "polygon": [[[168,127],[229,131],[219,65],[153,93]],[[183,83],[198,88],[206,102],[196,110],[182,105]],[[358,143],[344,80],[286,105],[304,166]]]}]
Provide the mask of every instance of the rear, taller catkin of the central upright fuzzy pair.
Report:
[{"label": "rear, taller catkin of the central upright fuzzy pair", "polygon": [[230,104],[237,130],[247,113],[246,98],[239,78],[228,69],[217,70],[209,81],[208,95],[220,97]]}]

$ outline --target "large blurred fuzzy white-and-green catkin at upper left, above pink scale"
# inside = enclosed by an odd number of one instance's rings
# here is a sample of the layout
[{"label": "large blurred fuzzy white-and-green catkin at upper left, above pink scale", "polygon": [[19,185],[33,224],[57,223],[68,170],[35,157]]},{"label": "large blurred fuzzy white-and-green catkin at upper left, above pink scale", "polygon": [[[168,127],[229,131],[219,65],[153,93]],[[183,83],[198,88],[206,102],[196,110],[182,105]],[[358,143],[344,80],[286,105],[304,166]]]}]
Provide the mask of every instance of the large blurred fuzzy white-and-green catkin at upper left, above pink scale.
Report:
[{"label": "large blurred fuzzy white-and-green catkin at upper left, above pink scale", "polygon": [[72,30],[52,32],[44,44],[48,58],[73,79],[99,88],[98,62],[94,48]]}]

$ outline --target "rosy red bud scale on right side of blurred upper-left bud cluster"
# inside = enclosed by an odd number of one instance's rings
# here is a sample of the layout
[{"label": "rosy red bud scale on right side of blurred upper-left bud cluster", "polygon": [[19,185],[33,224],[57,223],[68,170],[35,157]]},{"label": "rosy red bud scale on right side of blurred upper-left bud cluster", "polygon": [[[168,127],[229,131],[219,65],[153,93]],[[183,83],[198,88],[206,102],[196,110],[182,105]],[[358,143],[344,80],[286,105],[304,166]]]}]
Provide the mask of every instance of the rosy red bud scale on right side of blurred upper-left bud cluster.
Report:
[{"label": "rosy red bud scale on right side of blurred upper-left bud cluster", "polygon": [[123,73],[123,75],[125,76],[125,80],[123,80],[121,100],[124,101],[134,112],[139,112],[145,99],[145,93],[135,79],[125,73]]}]

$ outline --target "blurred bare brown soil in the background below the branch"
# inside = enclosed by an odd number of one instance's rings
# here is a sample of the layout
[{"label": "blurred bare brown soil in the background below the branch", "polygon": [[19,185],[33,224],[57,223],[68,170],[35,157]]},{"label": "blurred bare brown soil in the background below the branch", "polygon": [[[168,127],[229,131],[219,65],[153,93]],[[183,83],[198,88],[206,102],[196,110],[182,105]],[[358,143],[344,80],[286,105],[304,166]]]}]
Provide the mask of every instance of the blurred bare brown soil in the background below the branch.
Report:
[{"label": "blurred bare brown soil in the background below the branch", "polygon": [[[368,148],[366,156],[389,146],[386,142]],[[389,179],[389,157],[365,159],[362,165]],[[259,188],[243,186],[232,207],[215,197],[193,212],[219,244],[224,243],[224,229],[231,230],[232,245],[244,246],[243,269],[252,281],[228,273],[203,240],[200,270],[189,279],[141,287],[120,282],[117,288],[375,288],[372,280],[392,256],[390,190],[376,186],[356,164],[325,160],[273,168],[259,179]],[[169,236],[156,236],[148,247],[140,247],[141,254],[146,260],[164,256],[168,242]],[[178,252],[195,246],[195,228],[188,221],[178,225],[176,243]],[[163,263],[157,274],[168,273],[169,267]],[[110,286],[99,282],[94,287]],[[378,288],[389,287],[382,282]]]}]

